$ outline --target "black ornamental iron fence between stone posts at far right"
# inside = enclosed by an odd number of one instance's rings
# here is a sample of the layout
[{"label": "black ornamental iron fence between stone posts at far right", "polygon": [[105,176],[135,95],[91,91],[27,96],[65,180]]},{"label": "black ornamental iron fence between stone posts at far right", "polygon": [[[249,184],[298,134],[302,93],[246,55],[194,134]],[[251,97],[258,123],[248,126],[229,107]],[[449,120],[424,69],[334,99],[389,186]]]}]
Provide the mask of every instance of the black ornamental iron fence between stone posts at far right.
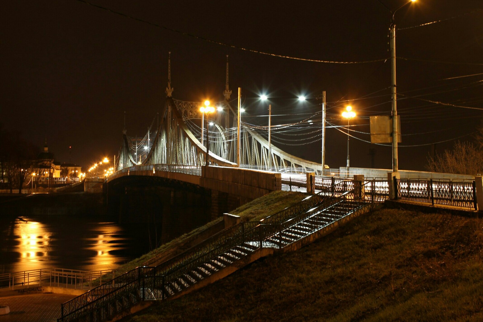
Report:
[{"label": "black ornamental iron fence between stone posts at far right", "polygon": [[474,180],[417,180],[394,178],[396,199],[478,210]]}]

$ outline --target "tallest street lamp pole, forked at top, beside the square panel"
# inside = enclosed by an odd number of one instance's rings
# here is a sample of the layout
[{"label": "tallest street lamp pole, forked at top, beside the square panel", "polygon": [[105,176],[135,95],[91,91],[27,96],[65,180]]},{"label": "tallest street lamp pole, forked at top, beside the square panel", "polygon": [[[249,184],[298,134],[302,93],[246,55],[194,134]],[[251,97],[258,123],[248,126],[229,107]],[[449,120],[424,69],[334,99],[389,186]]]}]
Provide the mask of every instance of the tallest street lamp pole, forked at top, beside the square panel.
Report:
[{"label": "tallest street lamp pole, forked at top, beside the square panel", "polygon": [[392,101],[392,157],[393,157],[393,172],[398,172],[398,110],[396,108],[396,24],[394,23],[394,15],[402,7],[408,5],[416,0],[409,0],[398,9],[391,11],[381,0],[378,0],[384,8],[391,14],[391,101]]}]

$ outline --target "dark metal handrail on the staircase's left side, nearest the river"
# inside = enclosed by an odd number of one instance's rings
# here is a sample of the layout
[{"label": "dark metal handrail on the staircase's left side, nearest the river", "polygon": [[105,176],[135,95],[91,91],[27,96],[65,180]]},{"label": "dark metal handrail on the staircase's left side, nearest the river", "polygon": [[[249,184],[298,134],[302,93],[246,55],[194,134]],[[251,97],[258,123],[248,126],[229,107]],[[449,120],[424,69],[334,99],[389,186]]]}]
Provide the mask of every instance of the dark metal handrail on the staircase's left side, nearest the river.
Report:
[{"label": "dark metal handrail on the staircase's left side, nearest the river", "polygon": [[[328,190],[321,191],[317,195],[306,198],[296,205],[288,207],[265,220],[242,222],[213,235],[201,244],[186,250],[184,253],[179,254],[156,267],[137,267],[62,304],[62,317],[57,321],[72,321],[83,316],[85,312],[90,312],[92,309],[102,307],[106,302],[112,302],[118,297],[128,296],[132,290],[139,290],[141,282],[145,283],[145,277],[153,279],[153,287],[156,286],[161,288],[162,298],[169,296],[170,294],[167,293],[165,289],[166,283],[175,282],[176,278],[182,276],[194,267],[207,263],[236,246],[255,242],[257,247],[254,248],[261,248],[263,247],[263,241],[270,238],[274,229],[279,230],[281,224],[293,225],[294,223],[299,222],[303,218],[310,216],[309,210],[314,207],[327,207],[340,202],[341,200],[347,198],[350,199],[351,195],[352,199],[355,200],[357,193],[361,195],[360,189],[363,189],[364,184],[357,186],[352,190],[347,190],[347,186],[347,181],[341,181],[337,185],[330,187]],[[342,191],[344,187],[345,191]],[[322,197],[325,197],[326,199],[323,200]],[[367,202],[363,198],[360,200]],[[294,218],[295,220],[290,220]],[[267,229],[267,227],[270,227],[270,229]],[[144,287],[142,287],[142,299],[144,299],[143,297],[145,296],[144,291]],[[137,303],[138,300],[135,301]]]}]

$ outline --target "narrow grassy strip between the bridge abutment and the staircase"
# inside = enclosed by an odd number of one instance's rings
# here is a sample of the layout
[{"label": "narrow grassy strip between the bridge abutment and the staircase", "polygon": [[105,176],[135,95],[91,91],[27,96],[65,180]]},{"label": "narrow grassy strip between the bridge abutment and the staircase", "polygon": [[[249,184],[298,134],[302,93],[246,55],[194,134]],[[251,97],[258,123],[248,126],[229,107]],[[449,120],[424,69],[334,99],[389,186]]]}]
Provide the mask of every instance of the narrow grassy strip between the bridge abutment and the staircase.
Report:
[{"label": "narrow grassy strip between the bridge abutment and the staircase", "polygon": [[[290,205],[298,203],[306,196],[307,195],[305,193],[301,193],[301,192],[274,191],[263,197],[260,197],[256,200],[253,200],[245,205],[238,207],[232,212],[232,214],[240,216],[242,221],[260,220],[274,213],[277,213],[278,211],[281,211]],[[175,238],[170,242],[163,244],[156,249],[153,249],[149,253],[144,254],[139,258],[136,258],[126,264],[119,266],[115,270],[115,275],[116,276],[120,275],[124,272],[127,272],[131,269],[134,269],[142,265],[150,258],[156,256],[156,254],[162,253],[166,249],[170,249],[171,247],[173,247],[173,245],[181,243],[184,239],[189,238],[190,236],[197,234],[202,230],[208,227],[211,227],[222,220],[223,218],[218,218],[213,221],[210,221],[204,226],[194,229],[193,231],[187,234],[183,234],[178,238]]]}]

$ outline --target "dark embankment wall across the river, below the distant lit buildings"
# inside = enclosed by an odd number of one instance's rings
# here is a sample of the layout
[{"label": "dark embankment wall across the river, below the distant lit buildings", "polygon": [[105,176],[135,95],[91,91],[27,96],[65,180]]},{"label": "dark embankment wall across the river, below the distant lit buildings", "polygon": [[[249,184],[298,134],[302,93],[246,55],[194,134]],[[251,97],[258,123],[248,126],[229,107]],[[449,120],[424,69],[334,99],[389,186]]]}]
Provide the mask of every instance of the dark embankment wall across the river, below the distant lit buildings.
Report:
[{"label": "dark embankment wall across the river, below the distant lit buildings", "polygon": [[46,193],[0,196],[0,215],[103,215],[102,193]]}]

